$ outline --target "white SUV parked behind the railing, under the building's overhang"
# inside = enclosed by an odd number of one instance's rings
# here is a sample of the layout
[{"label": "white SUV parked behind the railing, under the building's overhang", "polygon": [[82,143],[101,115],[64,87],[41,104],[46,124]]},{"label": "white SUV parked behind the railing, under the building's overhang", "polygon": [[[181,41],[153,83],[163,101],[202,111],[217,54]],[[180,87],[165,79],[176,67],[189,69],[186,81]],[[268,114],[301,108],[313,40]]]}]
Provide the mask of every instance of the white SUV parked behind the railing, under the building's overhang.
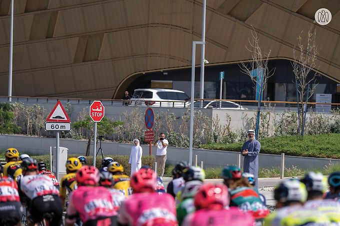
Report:
[{"label": "white SUV parked behind the railing, under the building's overhang", "polygon": [[135,89],[131,105],[152,107],[187,107],[190,97],[175,89]]}]

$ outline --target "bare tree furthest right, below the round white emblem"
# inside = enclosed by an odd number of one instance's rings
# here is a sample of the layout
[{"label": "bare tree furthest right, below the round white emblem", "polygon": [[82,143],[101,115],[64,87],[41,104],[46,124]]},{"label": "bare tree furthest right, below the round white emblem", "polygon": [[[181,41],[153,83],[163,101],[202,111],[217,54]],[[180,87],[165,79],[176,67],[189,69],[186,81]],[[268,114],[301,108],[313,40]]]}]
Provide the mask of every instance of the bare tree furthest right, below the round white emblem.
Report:
[{"label": "bare tree furthest right, below the round white emblem", "polygon": [[[316,45],[315,28],[310,27],[307,33],[306,43],[303,43],[302,32],[298,36],[298,51],[293,50],[294,61],[291,63],[295,75],[298,96],[298,133],[303,136],[305,124],[305,112],[307,101],[313,95],[316,85],[313,85],[319,74],[316,72],[316,55],[318,54]],[[313,72],[312,72],[313,71]],[[305,106],[303,105],[305,104]]]}]

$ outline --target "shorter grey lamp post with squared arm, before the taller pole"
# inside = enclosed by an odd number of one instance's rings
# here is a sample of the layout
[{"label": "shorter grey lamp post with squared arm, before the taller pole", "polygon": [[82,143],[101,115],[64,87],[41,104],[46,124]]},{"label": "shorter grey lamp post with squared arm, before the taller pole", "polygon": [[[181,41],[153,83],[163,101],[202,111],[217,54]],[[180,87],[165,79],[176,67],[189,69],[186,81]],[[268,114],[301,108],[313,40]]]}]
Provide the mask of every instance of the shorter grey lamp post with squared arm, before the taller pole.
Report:
[{"label": "shorter grey lamp post with squared arm, before the taller pole", "polygon": [[191,97],[190,97],[190,134],[189,134],[189,165],[192,166],[192,141],[193,141],[193,99],[195,89],[195,54],[196,44],[204,45],[204,41],[192,42],[191,58]]}]

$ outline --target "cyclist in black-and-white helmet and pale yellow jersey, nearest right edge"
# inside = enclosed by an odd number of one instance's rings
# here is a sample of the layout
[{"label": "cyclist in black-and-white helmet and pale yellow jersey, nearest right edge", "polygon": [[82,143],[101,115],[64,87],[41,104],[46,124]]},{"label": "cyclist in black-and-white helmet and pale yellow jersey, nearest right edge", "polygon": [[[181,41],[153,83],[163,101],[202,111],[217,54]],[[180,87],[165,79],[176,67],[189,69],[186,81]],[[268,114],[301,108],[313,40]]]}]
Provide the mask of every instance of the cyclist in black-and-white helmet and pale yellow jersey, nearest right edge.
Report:
[{"label": "cyclist in black-and-white helmet and pale yellow jersey, nearest right edge", "polygon": [[323,199],[328,187],[326,177],[319,172],[309,172],[300,181],[306,186],[308,194],[303,208],[319,212],[327,216],[334,225],[340,225],[340,203]]}]

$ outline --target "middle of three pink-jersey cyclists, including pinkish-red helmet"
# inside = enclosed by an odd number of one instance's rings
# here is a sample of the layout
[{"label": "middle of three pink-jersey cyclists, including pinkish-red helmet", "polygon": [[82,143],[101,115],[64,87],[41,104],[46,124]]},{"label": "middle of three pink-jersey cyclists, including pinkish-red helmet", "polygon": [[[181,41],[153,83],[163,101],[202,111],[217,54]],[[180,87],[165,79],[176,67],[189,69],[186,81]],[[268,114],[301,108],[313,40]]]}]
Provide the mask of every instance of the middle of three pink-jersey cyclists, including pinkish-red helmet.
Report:
[{"label": "middle of three pink-jersey cyclists, including pinkish-red helmet", "polygon": [[122,203],[120,226],[177,226],[176,209],[171,195],[156,193],[156,174],[142,168],[131,177],[133,194]]}]

